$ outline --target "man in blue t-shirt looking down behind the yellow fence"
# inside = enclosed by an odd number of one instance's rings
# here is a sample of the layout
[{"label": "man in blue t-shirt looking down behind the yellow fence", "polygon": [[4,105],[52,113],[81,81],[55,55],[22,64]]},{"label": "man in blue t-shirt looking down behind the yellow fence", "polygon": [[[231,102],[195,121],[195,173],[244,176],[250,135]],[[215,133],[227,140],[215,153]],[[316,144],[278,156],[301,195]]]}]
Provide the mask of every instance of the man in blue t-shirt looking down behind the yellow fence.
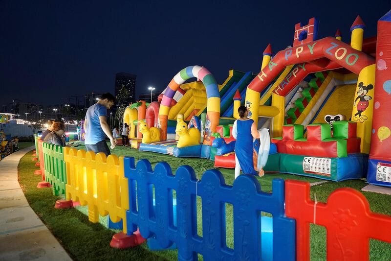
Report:
[{"label": "man in blue t-shirt looking down behind the yellow fence", "polygon": [[113,149],[117,144],[107,123],[107,109],[110,109],[114,102],[115,97],[110,93],[105,93],[97,103],[88,108],[84,121],[84,130],[86,132],[84,143],[86,144],[87,151],[92,150],[95,153],[103,152],[106,156],[109,156],[110,150],[105,141],[106,136],[110,139],[110,148]]}]

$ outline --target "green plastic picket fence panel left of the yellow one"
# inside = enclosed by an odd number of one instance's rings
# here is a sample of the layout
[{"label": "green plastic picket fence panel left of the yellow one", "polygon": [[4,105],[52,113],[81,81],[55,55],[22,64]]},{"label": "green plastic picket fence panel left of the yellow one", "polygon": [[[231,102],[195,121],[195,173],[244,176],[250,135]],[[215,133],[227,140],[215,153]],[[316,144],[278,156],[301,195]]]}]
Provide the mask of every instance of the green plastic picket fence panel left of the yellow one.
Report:
[{"label": "green plastic picket fence panel left of the yellow one", "polygon": [[63,147],[43,142],[43,158],[45,180],[53,186],[53,194],[65,194],[66,167]]}]

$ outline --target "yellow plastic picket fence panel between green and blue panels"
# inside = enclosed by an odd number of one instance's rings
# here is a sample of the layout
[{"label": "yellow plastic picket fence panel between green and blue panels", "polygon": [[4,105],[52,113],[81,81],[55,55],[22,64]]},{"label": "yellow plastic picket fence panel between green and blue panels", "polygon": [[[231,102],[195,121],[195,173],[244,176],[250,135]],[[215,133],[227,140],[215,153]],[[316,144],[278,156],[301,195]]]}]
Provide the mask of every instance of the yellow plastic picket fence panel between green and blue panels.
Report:
[{"label": "yellow plastic picket fence panel between green and blue panels", "polygon": [[123,220],[127,231],[129,210],[128,181],[124,177],[124,158],[104,153],[64,147],[66,163],[66,200],[88,205],[88,219],[99,222],[99,215],[109,214],[112,222]]}]

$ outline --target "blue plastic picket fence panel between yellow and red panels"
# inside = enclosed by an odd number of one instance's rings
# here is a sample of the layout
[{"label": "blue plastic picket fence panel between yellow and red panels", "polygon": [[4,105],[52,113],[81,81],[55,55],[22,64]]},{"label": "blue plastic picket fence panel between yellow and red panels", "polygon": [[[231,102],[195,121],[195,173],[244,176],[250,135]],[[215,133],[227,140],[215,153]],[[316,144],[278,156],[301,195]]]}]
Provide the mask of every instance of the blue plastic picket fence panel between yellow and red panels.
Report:
[{"label": "blue plastic picket fence panel between yellow and red panels", "polygon": [[[165,162],[152,170],[147,160],[134,166],[134,159],[125,157],[124,166],[130,197],[128,235],[138,227],[142,237],[155,235],[163,248],[175,242],[178,260],[197,260],[197,253],[204,260],[261,260],[262,211],[273,215],[273,259],[295,260],[295,220],[284,214],[282,179],[273,180],[273,193],[266,193],[249,175],[240,175],[231,187],[217,170],[207,170],[197,181],[190,166],[179,167],[175,175]],[[197,235],[196,196],[202,200],[202,237]],[[225,203],[234,209],[234,249],[226,246]]]}]

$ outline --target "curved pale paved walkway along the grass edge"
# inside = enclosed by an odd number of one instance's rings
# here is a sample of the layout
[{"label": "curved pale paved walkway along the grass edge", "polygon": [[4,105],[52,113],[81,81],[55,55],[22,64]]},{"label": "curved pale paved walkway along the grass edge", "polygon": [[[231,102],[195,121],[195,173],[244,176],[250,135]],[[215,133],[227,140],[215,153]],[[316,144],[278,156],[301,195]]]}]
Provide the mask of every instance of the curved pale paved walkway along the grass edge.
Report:
[{"label": "curved pale paved walkway along the grass edge", "polygon": [[18,182],[19,161],[33,148],[0,161],[0,260],[68,261],[71,258],[30,208]]}]

